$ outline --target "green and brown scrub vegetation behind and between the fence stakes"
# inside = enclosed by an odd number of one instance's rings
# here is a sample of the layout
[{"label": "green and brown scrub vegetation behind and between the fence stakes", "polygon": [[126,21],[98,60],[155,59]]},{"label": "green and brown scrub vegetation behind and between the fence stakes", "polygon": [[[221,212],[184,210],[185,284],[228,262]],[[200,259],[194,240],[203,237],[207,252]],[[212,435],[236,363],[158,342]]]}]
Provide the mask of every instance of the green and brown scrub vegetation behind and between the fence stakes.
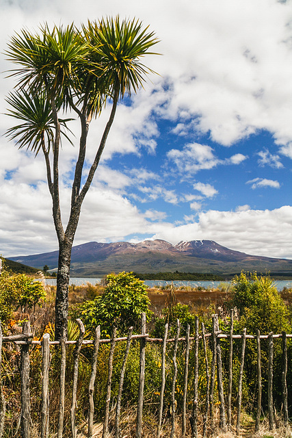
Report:
[{"label": "green and brown scrub vegetation behind and between the fence stakes", "polygon": [[[23,274],[13,274],[4,268],[0,277],[0,300],[3,304],[7,300],[7,291],[13,299],[8,303],[10,308],[1,311],[2,330],[5,335],[18,333],[18,326],[23,320],[30,318],[31,326],[34,331],[34,339],[41,339],[44,332],[54,336],[54,287],[42,287],[42,283],[34,282],[31,277]],[[115,325],[118,328],[118,336],[127,335],[129,326],[134,327],[134,333],[140,333],[140,314],[146,312],[147,315],[147,333],[150,337],[163,338],[165,323],[169,324],[169,337],[176,335],[176,320],[181,322],[181,337],[187,333],[187,324],[190,326],[190,335],[195,335],[196,317],[199,318],[200,326],[203,323],[206,333],[211,333],[211,317],[213,313],[219,316],[220,331],[228,333],[230,324],[230,309],[236,309],[234,321],[234,334],[241,334],[244,328],[247,328],[248,334],[255,334],[256,329],[261,334],[267,335],[271,331],[274,333],[292,333],[291,326],[291,300],[292,291],[285,290],[285,300],[278,293],[272,279],[267,276],[258,276],[256,273],[241,273],[233,279],[232,287],[226,289],[222,286],[223,291],[176,291],[173,288],[168,290],[148,290],[143,281],[137,279],[131,272],[121,272],[120,274],[109,274],[103,281],[103,285],[83,285],[70,286],[69,289],[69,313],[70,320],[68,324],[68,339],[76,340],[79,335],[76,318],[81,318],[85,325],[85,339],[92,339],[96,325],[101,325],[101,337],[111,336],[111,331]],[[194,299],[192,302],[180,302],[181,294],[200,294],[200,299]],[[151,295],[152,294],[152,295]],[[204,294],[211,294],[209,301],[202,301]],[[213,295],[212,295],[213,294]],[[163,309],[155,309],[152,305],[152,296],[163,296],[166,298]],[[221,296],[220,300],[218,296]],[[198,296],[197,296],[198,298]],[[5,314],[4,314],[5,310]],[[36,315],[38,318],[36,318]],[[228,385],[228,340],[221,339],[222,347],[222,366],[224,387]],[[288,363],[292,360],[292,344],[287,342]],[[73,352],[74,346],[68,346],[66,351],[66,402],[65,402],[65,428],[64,437],[70,436],[70,396],[72,394],[72,371],[74,368]],[[108,376],[108,359],[109,344],[101,344],[98,351],[97,359],[97,376],[96,386],[94,389],[94,427],[96,430],[101,428],[103,415],[105,412],[105,400],[107,392]],[[116,344],[113,374],[111,382],[111,401],[114,409],[118,396],[118,385],[120,380],[120,370],[124,358],[125,344],[118,342]],[[137,402],[137,391],[139,385],[139,353],[140,342],[133,340],[129,350],[129,357],[124,374],[124,387],[122,393],[122,417],[120,427],[124,435],[135,435],[135,404]],[[168,344],[165,357],[166,381],[165,381],[165,415],[163,434],[161,437],[170,436],[170,419],[172,417],[172,374],[173,374],[173,345]],[[241,342],[234,342],[233,350],[233,368],[235,377],[233,380],[233,400],[234,415],[237,404],[237,383],[239,372],[239,361],[241,355]],[[207,344],[207,357],[209,366],[211,365],[212,348],[211,341]],[[88,382],[91,372],[92,346],[83,346],[79,359],[79,381],[78,381],[78,404],[77,404],[77,424],[79,430],[83,430],[86,435],[86,419],[88,416]],[[31,348],[31,420],[35,425],[35,432],[32,431],[32,437],[38,435],[38,424],[40,418],[41,400],[41,350],[38,347]],[[2,363],[2,382],[3,394],[8,402],[6,411],[5,431],[3,437],[18,437],[17,422],[21,411],[20,404],[20,374],[19,374],[19,349],[8,348],[8,344],[3,346],[3,363]],[[274,410],[276,413],[276,422],[278,429],[271,432],[267,430],[268,424],[265,420],[267,412],[267,361],[268,352],[265,342],[262,343],[262,370],[263,370],[263,417],[261,430],[258,435],[252,435],[254,428],[254,406],[256,404],[256,342],[248,339],[245,350],[245,366],[243,378],[243,413],[241,415],[243,433],[250,433],[246,436],[258,437],[285,437],[288,435],[287,428],[279,428],[282,417],[282,391],[281,391],[281,362],[282,362],[282,340],[274,342]],[[194,369],[195,357],[193,349],[189,355],[189,370]],[[175,386],[176,398],[176,427],[181,427],[181,407],[183,404],[183,369],[185,366],[185,342],[178,344],[177,351],[177,378]],[[60,355],[57,348],[51,348],[51,366],[50,366],[50,430],[57,428],[57,411],[59,403],[59,367]],[[198,358],[198,394],[200,402],[198,404],[198,427],[202,428],[202,418],[204,411],[204,398],[206,396],[207,381],[205,374],[205,358],[200,349]],[[292,385],[292,370],[288,368],[287,385]],[[159,407],[159,396],[161,390],[161,344],[152,342],[146,343],[146,371],[144,387],[144,436],[155,437],[157,428],[157,415]],[[194,377],[189,373],[188,381],[189,396],[187,399],[187,409],[192,406],[192,394],[194,391]],[[217,419],[217,409],[219,402],[217,392],[214,395],[214,417]],[[291,403],[291,400],[290,400]],[[289,407],[289,409],[291,409]],[[111,411],[113,414],[113,411]],[[114,415],[114,414],[113,414]],[[292,411],[289,411],[292,415]],[[110,420],[109,428],[113,427],[113,421]],[[267,426],[267,428],[265,428]],[[250,429],[252,428],[252,429]],[[215,428],[218,437],[233,437],[232,432],[221,433]],[[284,430],[284,431],[283,431]],[[286,432],[285,432],[286,430]],[[211,433],[211,430],[209,430]],[[287,435],[285,435],[287,433]],[[282,435],[279,435],[282,434]],[[80,437],[85,436],[80,435]],[[20,435],[19,435],[20,436]],[[49,435],[53,437],[53,433]],[[99,435],[96,435],[99,436]],[[187,424],[187,437],[191,436],[190,425]],[[199,435],[200,436],[200,435]]]}]

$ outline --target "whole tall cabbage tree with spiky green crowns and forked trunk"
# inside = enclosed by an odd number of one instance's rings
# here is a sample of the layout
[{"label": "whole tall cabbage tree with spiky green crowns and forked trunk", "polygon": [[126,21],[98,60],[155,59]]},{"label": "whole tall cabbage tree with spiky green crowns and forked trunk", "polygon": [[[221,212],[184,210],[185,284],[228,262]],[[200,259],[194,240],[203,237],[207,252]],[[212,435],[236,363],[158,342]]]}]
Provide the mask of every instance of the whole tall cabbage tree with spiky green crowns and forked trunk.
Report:
[{"label": "whole tall cabbage tree with spiky green crowns and forked trunk", "polygon": [[[23,29],[8,44],[8,60],[17,80],[9,94],[8,114],[18,120],[7,135],[20,148],[42,153],[53,203],[59,243],[55,335],[59,339],[68,320],[70,257],[81,205],[100,162],[119,99],[136,92],[152,73],[140,58],[157,43],[153,32],[136,19],[107,18],[50,29],[47,24],[31,32]],[[83,175],[90,123],[110,100],[111,112],[88,175]],[[71,139],[66,114],[79,118],[81,134],[72,179],[70,216],[62,222],[59,203],[59,159],[62,139]],[[65,114],[65,116],[64,116]],[[72,142],[72,140],[70,140]]]}]

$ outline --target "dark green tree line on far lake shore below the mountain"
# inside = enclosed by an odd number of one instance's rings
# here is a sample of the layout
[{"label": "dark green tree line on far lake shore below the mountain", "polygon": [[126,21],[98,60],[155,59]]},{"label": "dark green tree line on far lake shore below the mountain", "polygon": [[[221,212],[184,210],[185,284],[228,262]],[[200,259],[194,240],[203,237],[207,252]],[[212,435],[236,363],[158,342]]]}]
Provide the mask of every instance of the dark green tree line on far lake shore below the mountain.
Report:
[{"label": "dark green tree line on far lake shore below the mountain", "polygon": [[148,274],[133,274],[140,280],[165,280],[165,281],[224,281],[224,277],[216,274],[200,274],[199,272],[151,272]]}]

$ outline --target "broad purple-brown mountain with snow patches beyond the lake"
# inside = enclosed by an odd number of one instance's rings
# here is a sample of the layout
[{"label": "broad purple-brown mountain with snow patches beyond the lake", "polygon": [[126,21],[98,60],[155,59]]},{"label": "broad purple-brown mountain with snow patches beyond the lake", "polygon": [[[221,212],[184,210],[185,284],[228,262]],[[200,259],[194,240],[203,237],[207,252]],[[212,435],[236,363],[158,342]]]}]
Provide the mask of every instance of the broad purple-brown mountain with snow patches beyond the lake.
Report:
[{"label": "broad purple-brown mountain with snow patches beyond the lake", "polygon": [[[58,251],[10,257],[35,268],[57,268]],[[292,276],[292,260],[240,253],[213,240],[182,241],[172,245],[165,240],[144,240],[137,244],[88,242],[72,248],[72,276],[100,276],[122,270],[134,272],[208,272],[230,275],[245,271],[271,272]]]}]

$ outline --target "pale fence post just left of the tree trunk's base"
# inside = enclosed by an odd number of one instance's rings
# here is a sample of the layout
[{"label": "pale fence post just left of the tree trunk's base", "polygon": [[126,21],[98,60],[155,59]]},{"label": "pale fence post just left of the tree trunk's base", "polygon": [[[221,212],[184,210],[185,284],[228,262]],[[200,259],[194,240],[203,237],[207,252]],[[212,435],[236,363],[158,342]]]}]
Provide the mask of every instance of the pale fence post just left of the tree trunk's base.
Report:
[{"label": "pale fence post just left of the tree trunk's base", "polygon": [[49,437],[49,365],[50,365],[50,335],[44,333],[42,337],[42,422],[41,438]]}]

